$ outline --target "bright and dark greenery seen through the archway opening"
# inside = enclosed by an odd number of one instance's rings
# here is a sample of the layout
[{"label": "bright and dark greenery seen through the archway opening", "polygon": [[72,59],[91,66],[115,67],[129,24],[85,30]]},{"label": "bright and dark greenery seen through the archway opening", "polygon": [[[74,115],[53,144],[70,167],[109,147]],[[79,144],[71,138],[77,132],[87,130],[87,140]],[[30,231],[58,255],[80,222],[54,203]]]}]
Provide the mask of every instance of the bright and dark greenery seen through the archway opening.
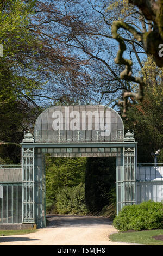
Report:
[{"label": "bright and dark greenery seen through the archway opening", "polygon": [[48,213],[93,214],[110,204],[116,205],[115,157],[47,156]]}]

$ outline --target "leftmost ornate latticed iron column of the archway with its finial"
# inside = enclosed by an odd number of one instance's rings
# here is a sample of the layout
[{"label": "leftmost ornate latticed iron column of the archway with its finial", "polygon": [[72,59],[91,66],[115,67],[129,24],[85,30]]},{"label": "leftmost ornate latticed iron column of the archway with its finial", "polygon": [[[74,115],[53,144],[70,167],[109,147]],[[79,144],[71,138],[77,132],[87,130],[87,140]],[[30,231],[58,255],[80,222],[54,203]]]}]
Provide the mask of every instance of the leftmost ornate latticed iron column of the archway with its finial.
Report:
[{"label": "leftmost ornate latticed iron column of the archway with its finial", "polygon": [[[33,136],[28,132],[23,143],[32,142]],[[22,223],[35,223],[34,191],[34,147],[22,146]]]}]

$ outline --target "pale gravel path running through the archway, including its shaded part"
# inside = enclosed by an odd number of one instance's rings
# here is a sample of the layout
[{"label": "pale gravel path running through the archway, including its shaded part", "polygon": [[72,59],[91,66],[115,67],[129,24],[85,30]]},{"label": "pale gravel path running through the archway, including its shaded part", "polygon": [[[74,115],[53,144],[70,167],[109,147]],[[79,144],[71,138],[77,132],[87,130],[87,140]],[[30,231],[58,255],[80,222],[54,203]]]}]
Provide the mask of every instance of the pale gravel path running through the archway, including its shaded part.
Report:
[{"label": "pale gravel path running through the archway, including its shaded part", "polygon": [[104,217],[47,215],[48,226],[27,235],[1,236],[0,245],[134,245],[111,242],[117,230]]}]

